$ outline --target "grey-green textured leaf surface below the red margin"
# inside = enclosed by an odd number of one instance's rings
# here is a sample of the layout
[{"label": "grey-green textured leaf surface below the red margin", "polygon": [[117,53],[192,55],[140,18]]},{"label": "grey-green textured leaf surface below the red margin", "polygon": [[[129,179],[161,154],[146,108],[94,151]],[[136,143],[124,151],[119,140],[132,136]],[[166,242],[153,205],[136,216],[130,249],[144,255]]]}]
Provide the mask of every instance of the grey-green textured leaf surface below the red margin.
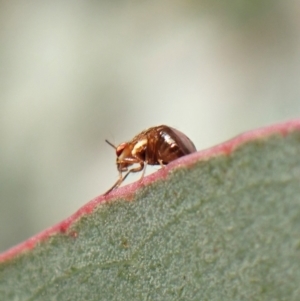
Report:
[{"label": "grey-green textured leaf surface below the red margin", "polygon": [[0,263],[0,300],[300,300],[300,129],[100,202]]}]

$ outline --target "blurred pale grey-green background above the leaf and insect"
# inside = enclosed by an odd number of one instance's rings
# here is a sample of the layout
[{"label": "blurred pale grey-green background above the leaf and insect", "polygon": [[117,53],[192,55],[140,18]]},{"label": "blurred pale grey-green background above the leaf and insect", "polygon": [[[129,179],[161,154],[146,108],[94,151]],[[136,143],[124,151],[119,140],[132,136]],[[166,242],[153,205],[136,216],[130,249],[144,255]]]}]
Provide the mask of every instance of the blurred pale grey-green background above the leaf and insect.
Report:
[{"label": "blurred pale grey-green background above the leaf and insect", "polygon": [[297,0],[0,1],[0,20],[0,251],[115,182],[105,139],[167,124],[200,150],[300,116]]}]

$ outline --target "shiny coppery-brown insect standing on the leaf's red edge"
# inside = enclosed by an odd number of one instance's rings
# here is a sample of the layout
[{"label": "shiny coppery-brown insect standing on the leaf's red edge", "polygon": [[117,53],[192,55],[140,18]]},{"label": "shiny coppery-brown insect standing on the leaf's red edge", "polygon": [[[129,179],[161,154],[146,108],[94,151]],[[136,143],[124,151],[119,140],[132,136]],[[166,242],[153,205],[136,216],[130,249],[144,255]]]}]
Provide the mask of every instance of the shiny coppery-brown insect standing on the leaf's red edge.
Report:
[{"label": "shiny coppery-brown insect standing on the leaf's red edge", "polygon": [[[107,191],[118,188],[130,173],[142,172],[143,178],[147,164],[164,166],[182,156],[196,152],[193,142],[183,133],[166,125],[151,127],[136,135],[131,141],[114,146],[116,150],[118,181]],[[139,166],[128,169],[129,166]],[[127,173],[123,176],[123,172]]]}]

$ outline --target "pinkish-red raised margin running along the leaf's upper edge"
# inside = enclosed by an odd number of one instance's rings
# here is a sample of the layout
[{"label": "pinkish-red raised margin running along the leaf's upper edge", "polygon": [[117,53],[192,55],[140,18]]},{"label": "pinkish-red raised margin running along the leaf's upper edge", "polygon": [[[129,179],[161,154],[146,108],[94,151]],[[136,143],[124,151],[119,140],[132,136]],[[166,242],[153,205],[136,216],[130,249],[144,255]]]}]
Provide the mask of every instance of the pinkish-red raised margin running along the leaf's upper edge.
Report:
[{"label": "pinkish-red raised margin running along the leaf's upper edge", "polygon": [[42,231],[41,233],[0,254],[0,263],[11,260],[21,253],[33,249],[38,243],[57,233],[65,233],[67,235],[76,236],[76,233],[68,232],[70,226],[83,215],[90,214],[97,205],[105,202],[110,202],[119,197],[131,200],[138,188],[146,186],[152,182],[165,179],[171,170],[174,170],[181,166],[192,166],[200,160],[207,160],[211,157],[216,157],[224,154],[229,155],[237,147],[246,142],[262,139],[274,134],[286,136],[293,131],[300,131],[300,119],[252,130],[209,149],[198,151],[191,155],[182,157],[174,162],[171,162],[165,168],[160,169],[157,172],[145,177],[142,182],[137,181],[135,183],[114,190],[108,195],[100,195],[94,198],[64,221]]}]

